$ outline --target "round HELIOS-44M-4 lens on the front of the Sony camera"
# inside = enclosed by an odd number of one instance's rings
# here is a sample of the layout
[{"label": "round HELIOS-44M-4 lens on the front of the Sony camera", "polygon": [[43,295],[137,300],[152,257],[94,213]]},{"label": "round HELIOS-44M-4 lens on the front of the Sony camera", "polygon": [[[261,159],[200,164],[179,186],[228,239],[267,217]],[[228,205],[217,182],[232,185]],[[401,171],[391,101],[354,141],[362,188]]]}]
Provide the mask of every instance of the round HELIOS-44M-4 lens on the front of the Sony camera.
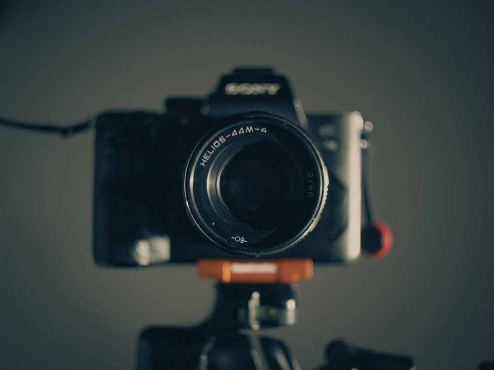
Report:
[{"label": "round HELIOS-44M-4 lens on the front of the Sony camera", "polygon": [[302,130],[252,113],[206,135],[189,158],[184,183],[189,216],[206,237],[233,253],[265,255],[315,226],[328,176]]}]

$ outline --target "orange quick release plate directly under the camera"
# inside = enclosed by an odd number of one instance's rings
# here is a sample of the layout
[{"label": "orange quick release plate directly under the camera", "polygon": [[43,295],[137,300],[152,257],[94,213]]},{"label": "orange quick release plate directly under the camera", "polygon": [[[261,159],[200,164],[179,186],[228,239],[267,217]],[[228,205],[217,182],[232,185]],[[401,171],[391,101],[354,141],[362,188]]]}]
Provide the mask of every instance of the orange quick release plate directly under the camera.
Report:
[{"label": "orange quick release plate directly under the camera", "polygon": [[197,270],[201,278],[221,283],[291,283],[311,279],[312,259],[200,259]]}]

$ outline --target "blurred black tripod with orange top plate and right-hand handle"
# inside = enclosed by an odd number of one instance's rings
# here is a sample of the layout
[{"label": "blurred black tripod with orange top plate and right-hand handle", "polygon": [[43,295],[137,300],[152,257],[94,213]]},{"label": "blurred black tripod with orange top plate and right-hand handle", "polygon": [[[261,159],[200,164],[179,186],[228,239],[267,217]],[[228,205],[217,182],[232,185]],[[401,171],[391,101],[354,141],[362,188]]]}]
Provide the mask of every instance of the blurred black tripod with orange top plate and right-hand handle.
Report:
[{"label": "blurred black tripod with orange top plate and right-hand handle", "polygon": [[[294,280],[310,278],[310,260],[201,261],[199,275],[215,277],[216,304],[197,327],[151,327],[140,336],[138,370],[300,370],[283,341],[259,329],[293,325]],[[342,341],[329,344],[321,370],[410,370],[410,357],[376,354]]]}]

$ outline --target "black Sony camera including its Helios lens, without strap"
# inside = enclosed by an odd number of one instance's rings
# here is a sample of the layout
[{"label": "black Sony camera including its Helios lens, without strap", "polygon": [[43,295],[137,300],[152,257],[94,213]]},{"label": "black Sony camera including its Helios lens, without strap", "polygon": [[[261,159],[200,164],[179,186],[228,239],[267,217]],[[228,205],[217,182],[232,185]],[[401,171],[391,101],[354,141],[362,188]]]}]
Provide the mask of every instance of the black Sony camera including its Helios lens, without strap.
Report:
[{"label": "black Sony camera including its Helios lens, without strap", "polygon": [[270,69],[237,69],[164,114],[98,115],[95,261],[357,259],[363,125],[358,112],[305,115]]}]

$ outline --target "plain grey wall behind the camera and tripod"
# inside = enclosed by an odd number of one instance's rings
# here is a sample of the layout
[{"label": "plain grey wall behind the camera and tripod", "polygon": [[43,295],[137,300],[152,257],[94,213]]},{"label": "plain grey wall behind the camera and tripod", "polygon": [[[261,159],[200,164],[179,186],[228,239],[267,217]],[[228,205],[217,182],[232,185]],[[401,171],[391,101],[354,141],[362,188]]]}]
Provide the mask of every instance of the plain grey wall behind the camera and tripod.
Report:
[{"label": "plain grey wall behind the camera and tripod", "polygon": [[[381,260],[301,282],[298,324],[269,331],[305,368],[335,337],[419,369],[494,360],[493,1],[7,1],[0,114],[71,123],[161,109],[269,65],[305,110],[374,123]],[[0,368],[133,369],[141,329],[193,325],[194,267],[103,269],[91,256],[93,134],[0,128]]]}]

